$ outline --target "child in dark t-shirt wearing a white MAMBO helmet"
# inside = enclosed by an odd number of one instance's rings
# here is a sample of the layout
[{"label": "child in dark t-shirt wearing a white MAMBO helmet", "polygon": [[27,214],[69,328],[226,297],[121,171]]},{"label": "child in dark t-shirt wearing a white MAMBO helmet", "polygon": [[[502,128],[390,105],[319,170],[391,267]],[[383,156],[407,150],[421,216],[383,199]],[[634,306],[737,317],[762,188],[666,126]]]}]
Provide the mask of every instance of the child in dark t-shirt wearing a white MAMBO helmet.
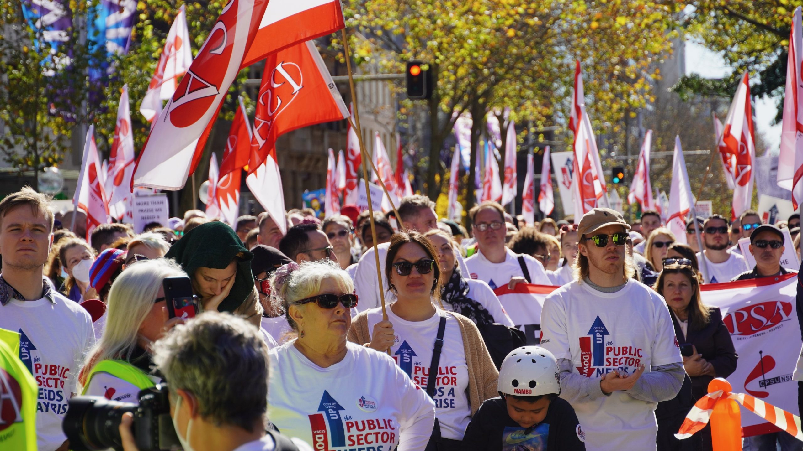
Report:
[{"label": "child in dark t-shirt wearing a white MAMBO helmet", "polygon": [[585,433],[560,394],[555,357],[543,347],[511,351],[499,369],[499,397],[486,400],[463,437],[467,451],[585,451]]}]

